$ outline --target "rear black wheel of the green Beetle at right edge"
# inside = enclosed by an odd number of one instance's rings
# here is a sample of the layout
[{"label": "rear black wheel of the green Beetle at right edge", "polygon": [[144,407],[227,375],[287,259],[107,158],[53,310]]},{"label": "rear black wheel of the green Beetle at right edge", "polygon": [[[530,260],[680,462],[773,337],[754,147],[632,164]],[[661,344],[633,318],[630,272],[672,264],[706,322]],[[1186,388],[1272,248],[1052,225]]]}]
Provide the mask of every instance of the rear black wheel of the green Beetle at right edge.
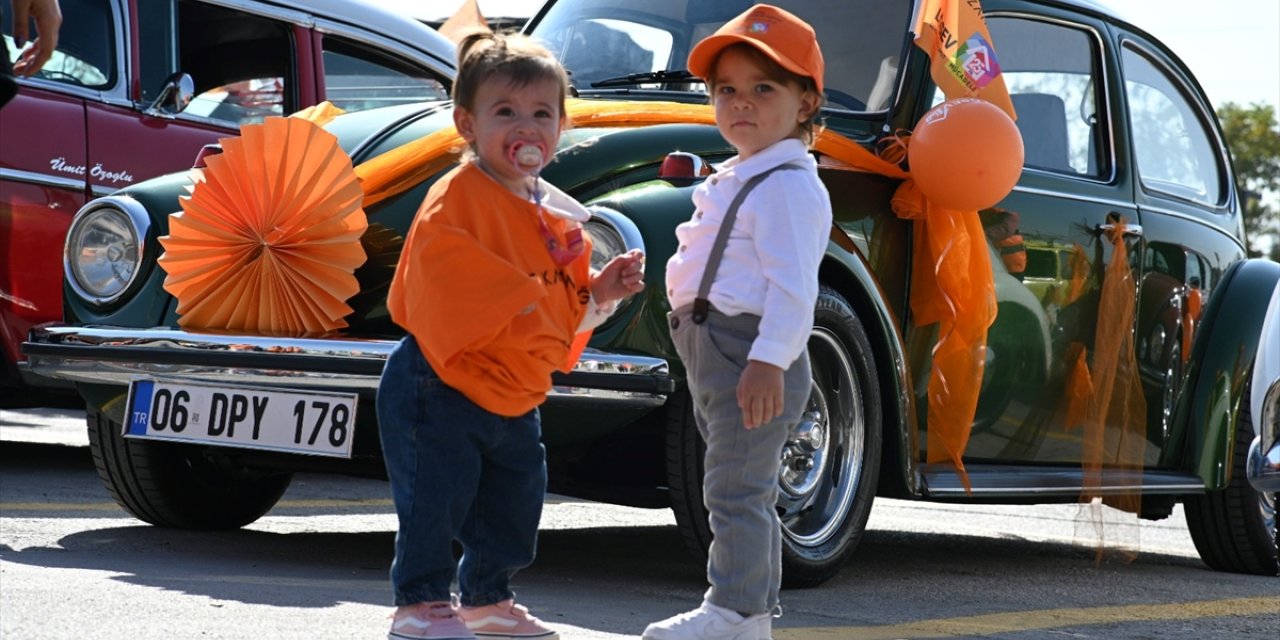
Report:
[{"label": "rear black wheel of the green Beetle at right edge", "polygon": [[1244,476],[1245,454],[1253,440],[1248,402],[1240,403],[1235,421],[1230,484],[1226,489],[1183,500],[1187,529],[1201,559],[1215,571],[1275,576],[1280,571],[1276,552],[1276,497],[1249,485]]}]

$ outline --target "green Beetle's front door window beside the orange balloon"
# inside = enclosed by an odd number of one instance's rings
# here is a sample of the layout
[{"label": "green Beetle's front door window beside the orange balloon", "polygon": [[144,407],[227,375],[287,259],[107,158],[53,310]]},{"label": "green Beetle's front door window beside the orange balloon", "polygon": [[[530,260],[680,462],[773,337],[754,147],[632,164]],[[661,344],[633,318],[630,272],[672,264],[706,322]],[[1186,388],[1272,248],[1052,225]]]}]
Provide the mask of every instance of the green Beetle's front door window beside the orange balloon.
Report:
[{"label": "green Beetle's front door window beside the orange balloon", "polygon": [[1100,125],[1098,49],[1091,32],[1023,18],[987,20],[1000,58],[1025,166],[1073,175],[1110,173]]}]

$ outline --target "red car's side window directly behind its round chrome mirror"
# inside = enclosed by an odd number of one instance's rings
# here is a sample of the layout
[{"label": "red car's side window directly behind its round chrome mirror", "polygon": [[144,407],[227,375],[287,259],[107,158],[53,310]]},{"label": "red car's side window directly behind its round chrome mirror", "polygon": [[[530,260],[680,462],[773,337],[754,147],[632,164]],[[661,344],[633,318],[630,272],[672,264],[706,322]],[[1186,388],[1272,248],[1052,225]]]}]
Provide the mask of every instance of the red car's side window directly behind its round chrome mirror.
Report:
[{"label": "red car's side window directly behind its round chrome mirror", "polygon": [[138,28],[145,101],[183,72],[196,84],[187,115],[239,125],[300,106],[292,95],[293,36],[284,23],[189,0],[138,0]]}]

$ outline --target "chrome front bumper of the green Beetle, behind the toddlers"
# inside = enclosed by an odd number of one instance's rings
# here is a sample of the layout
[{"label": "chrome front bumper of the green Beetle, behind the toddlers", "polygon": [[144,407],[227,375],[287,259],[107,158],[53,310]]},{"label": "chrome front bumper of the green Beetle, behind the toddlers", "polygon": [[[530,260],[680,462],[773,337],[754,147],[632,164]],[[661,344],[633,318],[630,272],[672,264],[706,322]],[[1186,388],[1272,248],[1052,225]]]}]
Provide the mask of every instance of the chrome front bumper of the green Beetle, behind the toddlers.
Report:
[{"label": "chrome front bumper of the green Beetle, behind the toddlers", "polygon": [[[22,346],[32,371],[72,383],[128,385],[140,376],[372,396],[397,340],[269,338],[109,326],[36,328]],[[556,374],[548,402],[657,407],[675,389],[667,362],[588,349]]]}]

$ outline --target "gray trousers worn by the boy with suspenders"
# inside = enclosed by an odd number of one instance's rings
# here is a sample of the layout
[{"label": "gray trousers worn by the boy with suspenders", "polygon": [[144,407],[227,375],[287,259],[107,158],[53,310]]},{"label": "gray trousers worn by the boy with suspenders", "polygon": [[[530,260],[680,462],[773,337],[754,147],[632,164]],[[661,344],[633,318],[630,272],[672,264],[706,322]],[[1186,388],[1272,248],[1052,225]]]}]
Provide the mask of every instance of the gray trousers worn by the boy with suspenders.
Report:
[{"label": "gray trousers worn by the boy with suspenders", "polygon": [[668,316],[684,362],[694,420],[707,442],[703,502],[710,512],[707,602],[745,614],[773,611],[782,581],[782,525],[774,504],[782,445],[809,399],[808,349],[783,375],[782,415],[755,429],[742,425],[737,383],[760,317],[714,308],[694,324],[691,306]]}]

